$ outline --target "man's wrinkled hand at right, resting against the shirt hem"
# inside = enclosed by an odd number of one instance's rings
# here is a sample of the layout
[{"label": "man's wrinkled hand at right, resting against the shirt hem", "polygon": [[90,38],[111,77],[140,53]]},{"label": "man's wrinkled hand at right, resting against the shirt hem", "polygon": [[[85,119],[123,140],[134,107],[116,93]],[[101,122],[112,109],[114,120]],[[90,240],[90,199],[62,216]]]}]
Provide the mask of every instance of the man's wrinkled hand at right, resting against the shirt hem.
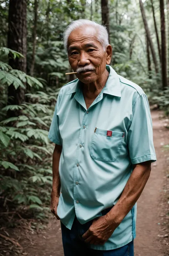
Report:
[{"label": "man's wrinkled hand at right, resting against the shirt hem", "polygon": [[118,225],[113,223],[113,221],[110,223],[106,215],[98,217],[94,219],[92,225],[83,234],[84,242],[93,245],[103,245],[111,237]]}]

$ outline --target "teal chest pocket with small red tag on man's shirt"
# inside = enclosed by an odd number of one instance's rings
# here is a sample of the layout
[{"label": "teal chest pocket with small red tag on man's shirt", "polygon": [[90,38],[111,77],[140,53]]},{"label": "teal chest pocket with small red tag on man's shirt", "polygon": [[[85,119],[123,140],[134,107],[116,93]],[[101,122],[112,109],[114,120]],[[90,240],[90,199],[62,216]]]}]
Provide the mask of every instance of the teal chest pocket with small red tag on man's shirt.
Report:
[{"label": "teal chest pocket with small red tag on man's shirt", "polygon": [[[107,136],[111,135],[111,136]],[[93,134],[90,155],[95,160],[113,162],[120,155],[124,132],[96,128]]]}]

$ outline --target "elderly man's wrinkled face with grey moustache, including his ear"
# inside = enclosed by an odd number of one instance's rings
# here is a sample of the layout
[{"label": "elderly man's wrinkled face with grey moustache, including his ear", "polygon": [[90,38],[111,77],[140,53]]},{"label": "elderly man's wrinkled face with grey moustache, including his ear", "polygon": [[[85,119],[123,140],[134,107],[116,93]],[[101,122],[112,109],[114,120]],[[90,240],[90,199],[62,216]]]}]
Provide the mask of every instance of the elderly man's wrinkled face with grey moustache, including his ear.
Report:
[{"label": "elderly man's wrinkled face with grey moustache, including his ear", "polygon": [[111,61],[111,46],[105,51],[93,27],[80,27],[68,38],[68,60],[84,84],[99,79]]}]

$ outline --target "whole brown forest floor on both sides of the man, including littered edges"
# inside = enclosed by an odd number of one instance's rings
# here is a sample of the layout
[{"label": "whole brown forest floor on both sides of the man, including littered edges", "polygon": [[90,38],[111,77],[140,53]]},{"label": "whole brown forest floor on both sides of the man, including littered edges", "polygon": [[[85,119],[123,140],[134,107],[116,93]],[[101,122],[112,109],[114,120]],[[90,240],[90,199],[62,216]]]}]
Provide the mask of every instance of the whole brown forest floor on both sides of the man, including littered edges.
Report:
[{"label": "whole brown forest floor on both sides of the man, including littered edges", "polygon": [[[138,200],[135,256],[169,256],[169,151],[163,148],[164,144],[169,144],[169,129],[165,128],[166,121],[161,116],[162,112],[152,111],[158,160],[152,164],[150,178]],[[35,231],[29,227],[31,224],[26,229],[1,229],[0,234],[14,238],[23,249],[21,254],[12,253],[1,239],[0,256],[63,256],[60,222],[55,217],[51,217],[44,229]]]}]

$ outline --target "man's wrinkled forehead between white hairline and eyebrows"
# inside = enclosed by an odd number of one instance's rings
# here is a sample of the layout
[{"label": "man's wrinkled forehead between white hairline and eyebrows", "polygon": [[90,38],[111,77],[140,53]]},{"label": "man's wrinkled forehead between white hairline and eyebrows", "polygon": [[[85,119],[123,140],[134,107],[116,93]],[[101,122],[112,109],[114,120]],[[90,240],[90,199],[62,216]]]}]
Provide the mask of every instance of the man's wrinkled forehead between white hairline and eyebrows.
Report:
[{"label": "man's wrinkled forehead between white hairline and eyebrows", "polygon": [[68,47],[72,44],[83,44],[86,41],[92,41],[97,46],[101,45],[97,38],[97,29],[92,26],[82,26],[73,30],[68,37]]}]

